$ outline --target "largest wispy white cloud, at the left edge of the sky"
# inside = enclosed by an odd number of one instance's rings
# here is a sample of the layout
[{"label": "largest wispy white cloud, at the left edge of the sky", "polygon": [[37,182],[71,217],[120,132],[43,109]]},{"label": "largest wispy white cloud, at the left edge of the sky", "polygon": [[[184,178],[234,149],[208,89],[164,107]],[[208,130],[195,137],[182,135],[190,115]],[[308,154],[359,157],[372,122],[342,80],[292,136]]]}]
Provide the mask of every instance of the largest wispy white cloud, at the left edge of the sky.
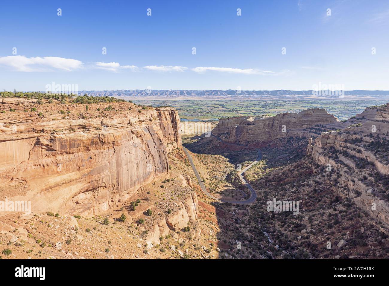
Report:
[{"label": "largest wispy white cloud, at the left edge of the sky", "polygon": [[59,57],[6,56],[0,57],[0,65],[9,66],[18,72],[72,71],[82,68],[82,61]]}]

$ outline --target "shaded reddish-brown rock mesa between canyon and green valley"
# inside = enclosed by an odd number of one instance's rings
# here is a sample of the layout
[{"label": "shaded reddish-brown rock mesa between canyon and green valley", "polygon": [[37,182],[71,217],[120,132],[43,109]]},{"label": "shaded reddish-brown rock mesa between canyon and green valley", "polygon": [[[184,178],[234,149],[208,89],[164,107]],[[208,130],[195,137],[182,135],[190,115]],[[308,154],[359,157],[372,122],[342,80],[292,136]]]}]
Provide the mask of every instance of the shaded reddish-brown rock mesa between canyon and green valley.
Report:
[{"label": "shaded reddish-brown rock mesa between canyon and green valley", "polygon": [[262,147],[279,138],[308,138],[309,128],[317,124],[336,124],[336,118],[317,108],[272,117],[231,117],[220,119],[212,134],[228,143]]}]

